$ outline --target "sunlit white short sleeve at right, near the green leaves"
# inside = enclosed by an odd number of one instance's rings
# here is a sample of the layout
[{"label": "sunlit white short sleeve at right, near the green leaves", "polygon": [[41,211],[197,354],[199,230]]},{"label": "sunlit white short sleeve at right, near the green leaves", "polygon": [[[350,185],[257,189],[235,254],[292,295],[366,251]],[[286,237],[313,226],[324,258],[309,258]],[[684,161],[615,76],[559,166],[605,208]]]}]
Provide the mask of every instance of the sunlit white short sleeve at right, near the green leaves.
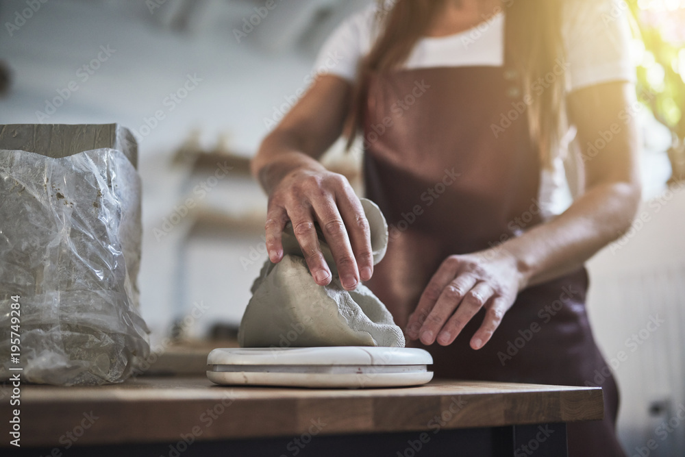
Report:
[{"label": "sunlit white short sleeve at right, near the green leaves", "polygon": [[603,82],[636,81],[627,14],[623,0],[564,2],[568,92]]}]

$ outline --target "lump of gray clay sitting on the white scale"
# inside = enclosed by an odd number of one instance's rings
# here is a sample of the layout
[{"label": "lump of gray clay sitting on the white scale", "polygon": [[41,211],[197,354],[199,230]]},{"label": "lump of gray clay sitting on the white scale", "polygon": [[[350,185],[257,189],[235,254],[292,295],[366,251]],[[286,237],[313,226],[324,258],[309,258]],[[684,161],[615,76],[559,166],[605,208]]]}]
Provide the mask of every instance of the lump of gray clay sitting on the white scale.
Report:
[{"label": "lump of gray clay sitting on the white scale", "polygon": [[[373,262],[388,245],[388,225],[379,208],[361,199],[371,228]],[[242,347],[392,346],[404,347],[403,333],[385,305],[363,284],[345,291],[331,251],[319,231],[319,245],[334,279],[314,282],[292,225],[282,236],[284,258],[266,260],[252,286],[252,298],[240,322]]]}]

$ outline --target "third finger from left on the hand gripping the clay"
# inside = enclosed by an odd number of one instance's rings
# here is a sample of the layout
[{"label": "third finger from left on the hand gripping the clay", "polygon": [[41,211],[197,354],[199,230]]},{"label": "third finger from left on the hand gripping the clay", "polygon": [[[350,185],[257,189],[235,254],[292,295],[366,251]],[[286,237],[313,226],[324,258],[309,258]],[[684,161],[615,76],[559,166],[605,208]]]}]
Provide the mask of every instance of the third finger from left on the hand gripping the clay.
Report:
[{"label": "third finger from left on the hand gripping the clay", "polygon": [[356,288],[359,282],[357,264],[354,261],[352,247],[347,237],[347,229],[343,218],[340,217],[334,199],[318,199],[313,203],[316,219],[331,249],[331,254],[338,267],[340,282],[348,291]]}]

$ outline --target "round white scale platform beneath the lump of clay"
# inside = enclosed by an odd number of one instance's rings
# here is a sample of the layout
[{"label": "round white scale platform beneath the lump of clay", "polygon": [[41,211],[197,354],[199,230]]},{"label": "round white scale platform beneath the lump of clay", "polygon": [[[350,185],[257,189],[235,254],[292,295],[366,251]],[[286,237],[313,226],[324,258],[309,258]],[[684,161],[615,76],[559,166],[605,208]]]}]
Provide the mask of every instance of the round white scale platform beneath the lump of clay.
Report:
[{"label": "round white scale platform beneath the lump of clay", "polygon": [[433,378],[432,356],[414,347],[236,347],[214,349],[215,384],[364,388],[419,386]]}]

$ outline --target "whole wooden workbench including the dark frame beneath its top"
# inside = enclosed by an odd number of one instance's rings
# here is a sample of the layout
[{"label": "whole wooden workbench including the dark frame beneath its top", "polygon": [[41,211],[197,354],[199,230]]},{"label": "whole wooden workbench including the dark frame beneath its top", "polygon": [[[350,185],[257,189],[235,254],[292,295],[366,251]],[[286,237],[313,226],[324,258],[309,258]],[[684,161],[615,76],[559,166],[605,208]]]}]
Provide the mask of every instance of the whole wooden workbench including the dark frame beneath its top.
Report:
[{"label": "whole wooden workbench including the dark frame beneath its top", "polygon": [[[15,408],[9,405],[10,391],[10,386],[0,391],[3,447],[9,441],[5,418]],[[600,388],[438,380],[411,388],[331,390],[140,377],[99,387],[23,384],[21,445],[44,448],[33,449],[33,456],[96,455],[92,446],[103,445],[112,455],[129,457],[136,449],[145,449],[139,455],[170,457],[214,455],[212,449],[227,456],[382,455],[371,449],[410,456],[416,447],[421,456],[430,456],[446,455],[440,454],[445,446],[466,449],[458,444],[461,439],[474,447],[490,442],[490,449],[460,456],[513,456],[517,443],[543,436],[536,456],[557,457],[565,454],[543,450],[560,440],[565,449],[564,423],[602,415]],[[478,444],[478,436],[485,444]],[[447,444],[440,445],[443,441]],[[69,443],[75,446],[64,452]],[[355,444],[363,449],[355,450]],[[234,452],[225,453],[232,446]],[[79,449],[84,454],[77,454]],[[107,455],[104,447],[97,449],[97,455]],[[5,455],[2,449],[0,454]]]}]

